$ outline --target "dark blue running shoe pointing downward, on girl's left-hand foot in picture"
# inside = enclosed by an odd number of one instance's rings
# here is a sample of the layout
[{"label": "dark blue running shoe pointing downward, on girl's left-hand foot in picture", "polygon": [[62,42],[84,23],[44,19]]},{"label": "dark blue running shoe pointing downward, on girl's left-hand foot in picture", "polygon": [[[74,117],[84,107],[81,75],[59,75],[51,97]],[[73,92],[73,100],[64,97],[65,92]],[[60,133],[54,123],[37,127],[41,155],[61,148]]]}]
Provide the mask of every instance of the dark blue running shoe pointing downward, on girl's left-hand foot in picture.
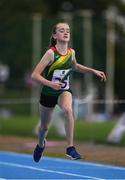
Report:
[{"label": "dark blue running shoe pointing downward, on girl's left-hand foot in picture", "polygon": [[39,144],[36,145],[33,152],[33,159],[35,162],[39,162],[41,156],[43,155],[44,149],[45,149],[45,141],[44,141],[44,146],[42,148],[39,146]]}]

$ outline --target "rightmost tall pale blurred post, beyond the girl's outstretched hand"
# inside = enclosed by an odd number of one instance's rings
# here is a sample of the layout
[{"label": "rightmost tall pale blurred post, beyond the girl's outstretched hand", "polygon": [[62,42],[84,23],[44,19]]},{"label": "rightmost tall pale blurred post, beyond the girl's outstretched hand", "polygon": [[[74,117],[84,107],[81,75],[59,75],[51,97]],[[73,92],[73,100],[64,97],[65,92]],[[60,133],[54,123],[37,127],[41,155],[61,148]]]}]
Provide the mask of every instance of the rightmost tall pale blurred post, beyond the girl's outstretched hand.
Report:
[{"label": "rightmost tall pale blurred post, beyond the girl's outstretched hand", "polygon": [[[115,28],[114,19],[115,11],[114,9],[109,9],[107,11],[107,58],[106,58],[106,100],[114,100],[114,68],[115,68]],[[106,113],[112,114],[114,110],[113,103],[106,103]]]}]

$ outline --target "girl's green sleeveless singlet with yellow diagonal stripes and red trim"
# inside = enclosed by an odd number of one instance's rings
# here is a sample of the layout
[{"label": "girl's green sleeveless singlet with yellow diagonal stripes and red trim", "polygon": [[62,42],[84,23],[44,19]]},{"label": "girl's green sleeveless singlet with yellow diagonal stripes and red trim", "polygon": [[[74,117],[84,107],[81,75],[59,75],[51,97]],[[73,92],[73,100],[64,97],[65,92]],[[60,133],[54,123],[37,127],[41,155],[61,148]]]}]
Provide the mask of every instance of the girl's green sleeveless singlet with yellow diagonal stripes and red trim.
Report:
[{"label": "girl's green sleeveless singlet with yellow diagonal stripes and red trim", "polygon": [[[48,65],[44,70],[44,77],[50,81],[59,80],[60,77],[72,67],[72,49],[68,48],[66,55],[58,53],[55,47],[51,47],[54,53],[54,61],[51,65]],[[69,89],[69,77],[63,82],[60,90],[54,90],[48,86],[42,87],[42,94],[50,96],[58,96],[62,91]]]}]

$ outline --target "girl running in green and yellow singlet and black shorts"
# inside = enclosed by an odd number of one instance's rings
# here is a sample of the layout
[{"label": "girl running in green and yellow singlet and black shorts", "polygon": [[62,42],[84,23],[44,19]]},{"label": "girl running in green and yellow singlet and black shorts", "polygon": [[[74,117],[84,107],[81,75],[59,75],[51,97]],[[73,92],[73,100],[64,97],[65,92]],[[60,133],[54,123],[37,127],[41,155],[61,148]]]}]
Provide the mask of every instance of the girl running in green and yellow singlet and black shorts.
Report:
[{"label": "girl running in green and yellow singlet and black shorts", "polygon": [[71,159],[81,158],[73,145],[74,118],[69,77],[63,82],[60,81],[68,69],[73,66],[74,71],[93,73],[101,78],[102,81],[106,81],[106,76],[102,71],[77,63],[75,51],[68,46],[69,41],[69,25],[64,22],[57,23],[52,30],[50,48],[45,52],[31,75],[33,80],[43,85],[40,95],[41,124],[38,133],[38,144],[33,153],[35,162],[38,162],[43,154],[52,112],[56,104],[64,111],[66,117],[66,155]]}]

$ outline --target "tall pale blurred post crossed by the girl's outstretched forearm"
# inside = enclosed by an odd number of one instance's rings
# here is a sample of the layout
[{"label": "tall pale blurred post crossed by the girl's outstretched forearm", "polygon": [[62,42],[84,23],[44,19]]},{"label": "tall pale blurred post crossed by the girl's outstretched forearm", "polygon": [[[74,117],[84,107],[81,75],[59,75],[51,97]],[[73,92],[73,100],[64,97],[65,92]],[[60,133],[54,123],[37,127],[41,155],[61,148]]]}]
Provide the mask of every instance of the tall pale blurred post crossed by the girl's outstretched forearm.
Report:
[{"label": "tall pale blurred post crossed by the girl's outstretched forearm", "polygon": [[[84,10],[78,12],[83,17],[83,64],[88,67],[93,66],[93,53],[92,53],[92,12],[90,10]],[[93,74],[85,74],[84,77],[86,94],[94,98],[95,87],[93,86]],[[91,100],[92,100],[91,99]],[[93,104],[88,101],[88,115],[93,114]]]}]

